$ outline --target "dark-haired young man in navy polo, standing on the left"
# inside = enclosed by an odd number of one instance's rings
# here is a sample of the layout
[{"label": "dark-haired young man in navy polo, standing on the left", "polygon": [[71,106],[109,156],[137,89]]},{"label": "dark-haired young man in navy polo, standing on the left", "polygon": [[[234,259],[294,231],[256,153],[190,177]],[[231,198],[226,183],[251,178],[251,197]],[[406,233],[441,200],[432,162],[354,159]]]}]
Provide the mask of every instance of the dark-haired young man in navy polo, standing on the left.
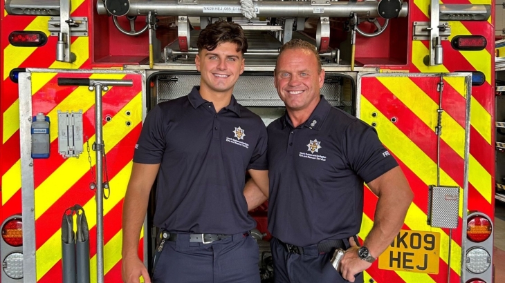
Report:
[{"label": "dark-haired young man in navy polo, standing on the left", "polygon": [[[125,282],[255,282],[259,251],[244,197],[246,171],[268,191],[266,128],[237,104],[247,41],[218,21],[197,41],[200,86],[149,111],[135,150],[123,206]],[[157,177],[154,224],[161,230],[152,281],[138,258],[149,192]]]}]

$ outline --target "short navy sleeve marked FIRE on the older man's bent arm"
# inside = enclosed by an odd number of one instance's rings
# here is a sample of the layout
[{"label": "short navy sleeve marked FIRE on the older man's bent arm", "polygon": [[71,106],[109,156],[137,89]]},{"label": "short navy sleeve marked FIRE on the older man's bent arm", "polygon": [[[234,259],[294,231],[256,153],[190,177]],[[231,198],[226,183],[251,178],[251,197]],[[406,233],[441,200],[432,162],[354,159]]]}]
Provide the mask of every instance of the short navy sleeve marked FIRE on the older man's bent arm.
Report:
[{"label": "short navy sleeve marked FIRE on the older man's bent arm", "polygon": [[376,130],[360,120],[349,124],[343,143],[349,166],[366,183],[398,166],[380,142]]}]

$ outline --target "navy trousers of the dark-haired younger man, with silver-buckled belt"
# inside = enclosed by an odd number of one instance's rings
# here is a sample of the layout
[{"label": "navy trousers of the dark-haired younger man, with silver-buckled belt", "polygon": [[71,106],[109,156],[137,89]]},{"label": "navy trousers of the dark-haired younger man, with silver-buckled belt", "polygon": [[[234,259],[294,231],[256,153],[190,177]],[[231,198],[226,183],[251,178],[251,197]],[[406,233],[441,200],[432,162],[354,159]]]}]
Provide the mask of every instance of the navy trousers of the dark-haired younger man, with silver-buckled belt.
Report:
[{"label": "navy trousers of the dark-haired younger man, with silver-buckled belt", "polygon": [[259,248],[248,235],[210,244],[190,243],[189,234],[167,241],[154,263],[154,283],[259,283]]}]

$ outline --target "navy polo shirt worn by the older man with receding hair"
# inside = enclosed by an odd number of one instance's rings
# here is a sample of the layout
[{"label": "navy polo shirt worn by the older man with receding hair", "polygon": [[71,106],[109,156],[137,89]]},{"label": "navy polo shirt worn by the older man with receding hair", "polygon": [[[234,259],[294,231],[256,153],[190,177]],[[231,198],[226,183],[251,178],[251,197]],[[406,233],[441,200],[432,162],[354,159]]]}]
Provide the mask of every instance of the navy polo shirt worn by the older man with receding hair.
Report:
[{"label": "navy polo shirt worn by the older man with receding hair", "polygon": [[376,130],[321,97],[293,128],[287,113],[268,131],[268,231],[309,246],[360,231],[363,182],[398,166]]}]

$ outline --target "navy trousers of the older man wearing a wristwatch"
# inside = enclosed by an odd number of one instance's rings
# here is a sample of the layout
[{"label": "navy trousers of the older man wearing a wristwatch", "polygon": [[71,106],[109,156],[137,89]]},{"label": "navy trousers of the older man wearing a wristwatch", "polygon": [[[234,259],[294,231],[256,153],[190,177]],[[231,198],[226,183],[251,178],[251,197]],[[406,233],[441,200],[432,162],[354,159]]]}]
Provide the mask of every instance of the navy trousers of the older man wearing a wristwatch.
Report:
[{"label": "navy trousers of the older man wearing a wristwatch", "polygon": [[[345,241],[349,247],[349,242]],[[340,272],[331,265],[333,253],[318,253],[318,246],[304,247],[304,254],[288,253],[276,238],[270,240],[273,257],[273,277],[275,283],[345,283]],[[363,273],[354,280],[363,283]]]}]

